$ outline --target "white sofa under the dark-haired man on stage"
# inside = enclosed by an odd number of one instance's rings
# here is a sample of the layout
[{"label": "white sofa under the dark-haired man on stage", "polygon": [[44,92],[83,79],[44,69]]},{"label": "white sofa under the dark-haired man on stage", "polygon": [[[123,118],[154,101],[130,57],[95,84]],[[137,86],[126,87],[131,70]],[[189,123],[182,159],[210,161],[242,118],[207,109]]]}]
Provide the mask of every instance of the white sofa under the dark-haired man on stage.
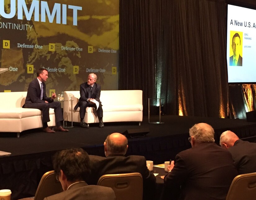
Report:
[{"label": "white sofa under the dark-haired man on stage", "polygon": [[[0,132],[20,132],[41,128],[42,116],[39,109],[22,108],[27,92],[0,92]],[[48,126],[55,126],[54,109],[50,109]]]}]

